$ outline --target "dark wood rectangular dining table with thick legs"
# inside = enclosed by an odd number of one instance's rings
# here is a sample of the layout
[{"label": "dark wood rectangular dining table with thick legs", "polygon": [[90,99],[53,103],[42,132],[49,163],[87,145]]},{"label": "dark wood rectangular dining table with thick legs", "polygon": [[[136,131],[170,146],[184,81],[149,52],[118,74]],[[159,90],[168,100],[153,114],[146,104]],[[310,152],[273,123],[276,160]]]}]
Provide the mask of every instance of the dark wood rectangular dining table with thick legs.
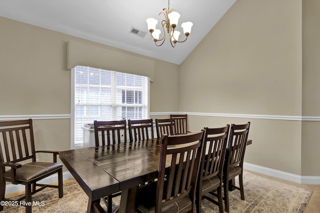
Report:
[{"label": "dark wood rectangular dining table with thick legs", "polygon": [[100,198],[118,191],[119,212],[135,212],[138,185],[157,178],[160,148],[154,138],[60,151],[59,158],[88,196],[87,212],[105,212]]}]

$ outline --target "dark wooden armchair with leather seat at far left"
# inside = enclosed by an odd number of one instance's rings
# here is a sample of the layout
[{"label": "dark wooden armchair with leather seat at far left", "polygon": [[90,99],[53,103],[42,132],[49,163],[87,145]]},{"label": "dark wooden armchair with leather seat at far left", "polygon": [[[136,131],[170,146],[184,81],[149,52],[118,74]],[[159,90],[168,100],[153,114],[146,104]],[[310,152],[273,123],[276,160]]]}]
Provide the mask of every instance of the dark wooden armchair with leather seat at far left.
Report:
[{"label": "dark wooden armchair with leather seat at far left", "polygon": [[[51,153],[52,162],[37,161],[36,153]],[[31,203],[31,195],[45,187],[58,188],[58,196],[63,196],[62,164],[56,162],[59,151],[35,150],[32,119],[0,121],[0,200],[20,203],[25,199]],[[9,169],[5,170],[6,167]],[[37,181],[57,173],[58,185],[40,184]],[[12,200],[5,198],[5,181],[25,185],[25,195]],[[40,186],[36,188],[36,186]],[[16,201],[16,202],[15,202]],[[0,211],[3,205],[0,205]],[[25,205],[25,212],[31,212],[32,205]]]}]

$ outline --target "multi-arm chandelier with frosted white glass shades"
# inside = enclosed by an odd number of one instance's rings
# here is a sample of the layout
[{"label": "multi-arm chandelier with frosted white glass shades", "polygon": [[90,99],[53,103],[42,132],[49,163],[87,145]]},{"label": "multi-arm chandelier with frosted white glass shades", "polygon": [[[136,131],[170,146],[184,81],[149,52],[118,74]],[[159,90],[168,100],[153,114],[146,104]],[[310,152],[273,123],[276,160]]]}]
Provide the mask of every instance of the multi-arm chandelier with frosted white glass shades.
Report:
[{"label": "multi-arm chandelier with frosted white glass shades", "polygon": [[161,46],[165,40],[165,31],[164,26],[166,28],[166,31],[168,32],[168,36],[170,38],[171,46],[174,47],[176,42],[184,42],[191,31],[191,26],[193,25],[192,22],[187,21],[183,22],[181,24],[181,27],[183,28],[183,32],[185,35],[184,40],[178,40],[180,32],[178,30],[175,30],[175,27],[178,23],[178,19],[180,17],[180,14],[178,12],[174,12],[174,9],[170,9],[170,2],[168,0],[168,8],[163,8],[163,11],[159,13],[164,14],[165,19],[161,21],[162,25],[162,31],[163,36],[159,39],[159,35],[161,33],[160,29],[156,29],[155,26],[158,23],[158,20],[155,18],[147,18],[146,22],[148,24],[148,30],[151,33],[151,37],[155,43],[156,46]]}]

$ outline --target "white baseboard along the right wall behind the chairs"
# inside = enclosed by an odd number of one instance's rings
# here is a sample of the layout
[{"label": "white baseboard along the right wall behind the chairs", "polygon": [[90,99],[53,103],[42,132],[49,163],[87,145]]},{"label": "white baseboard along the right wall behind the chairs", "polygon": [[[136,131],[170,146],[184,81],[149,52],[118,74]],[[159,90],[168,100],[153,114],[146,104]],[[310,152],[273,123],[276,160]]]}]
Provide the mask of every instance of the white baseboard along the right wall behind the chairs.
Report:
[{"label": "white baseboard along the right wall behind the chairs", "polygon": [[260,165],[247,163],[247,162],[243,163],[243,168],[251,171],[255,171],[261,174],[278,177],[278,178],[289,180],[292,182],[297,182],[300,184],[317,184],[317,185],[320,184],[320,176],[300,176],[297,174],[291,174],[288,172],[267,168]]}]

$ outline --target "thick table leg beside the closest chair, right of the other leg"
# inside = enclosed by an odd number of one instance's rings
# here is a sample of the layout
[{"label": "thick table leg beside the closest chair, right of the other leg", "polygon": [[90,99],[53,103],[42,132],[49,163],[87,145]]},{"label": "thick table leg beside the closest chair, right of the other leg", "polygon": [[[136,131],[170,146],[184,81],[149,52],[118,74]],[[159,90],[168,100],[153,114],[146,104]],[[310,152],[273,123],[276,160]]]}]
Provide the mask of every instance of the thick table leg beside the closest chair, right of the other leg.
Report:
[{"label": "thick table leg beside the closest chair, right of the other leg", "polygon": [[121,191],[119,213],[135,213],[135,195],[138,186]]}]

